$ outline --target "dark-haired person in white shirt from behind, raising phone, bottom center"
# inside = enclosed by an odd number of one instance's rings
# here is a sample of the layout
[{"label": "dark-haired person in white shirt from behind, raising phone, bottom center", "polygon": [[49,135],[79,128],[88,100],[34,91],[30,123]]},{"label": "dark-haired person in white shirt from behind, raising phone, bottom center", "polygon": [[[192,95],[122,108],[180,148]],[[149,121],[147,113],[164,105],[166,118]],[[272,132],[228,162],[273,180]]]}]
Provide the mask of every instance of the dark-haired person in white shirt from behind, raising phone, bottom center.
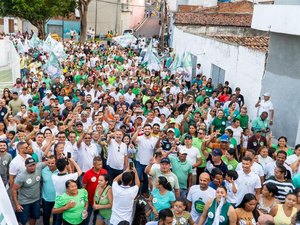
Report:
[{"label": "dark-haired person in white shirt from behind, raising phone, bottom center", "polygon": [[[137,171],[134,167],[132,169],[132,172],[126,171],[117,176],[112,184],[113,206],[110,217],[111,224],[117,225],[121,221],[132,223],[133,203],[140,187]],[[121,185],[119,185],[119,181],[122,182]]]}]

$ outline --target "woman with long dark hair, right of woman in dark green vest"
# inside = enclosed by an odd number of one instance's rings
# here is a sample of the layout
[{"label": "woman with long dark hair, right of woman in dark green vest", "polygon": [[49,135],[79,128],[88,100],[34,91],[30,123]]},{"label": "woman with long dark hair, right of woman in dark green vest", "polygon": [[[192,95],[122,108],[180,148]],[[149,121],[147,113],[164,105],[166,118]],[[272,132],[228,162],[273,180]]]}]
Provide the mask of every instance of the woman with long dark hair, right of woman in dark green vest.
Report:
[{"label": "woman with long dark hair, right of woman in dark green vest", "polygon": [[256,224],[259,217],[259,211],[256,208],[257,200],[254,194],[245,194],[240,205],[235,209],[237,214],[237,224],[253,225]]}]

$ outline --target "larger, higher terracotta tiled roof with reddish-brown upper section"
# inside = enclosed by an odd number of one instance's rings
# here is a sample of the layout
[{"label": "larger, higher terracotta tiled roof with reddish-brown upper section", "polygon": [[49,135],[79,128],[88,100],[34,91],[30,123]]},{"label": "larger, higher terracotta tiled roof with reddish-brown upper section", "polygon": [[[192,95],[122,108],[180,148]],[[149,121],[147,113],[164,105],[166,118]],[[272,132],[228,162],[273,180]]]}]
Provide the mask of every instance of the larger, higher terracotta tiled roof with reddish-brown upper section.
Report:
[{"label": "larger, higher terracotta tiled roof with reddish-brown upper section", "polygon": [[180,6],[175,13],[177,25],[213,25],[251,27],[253,3],[248,1],[218,3],[215,7]]}]

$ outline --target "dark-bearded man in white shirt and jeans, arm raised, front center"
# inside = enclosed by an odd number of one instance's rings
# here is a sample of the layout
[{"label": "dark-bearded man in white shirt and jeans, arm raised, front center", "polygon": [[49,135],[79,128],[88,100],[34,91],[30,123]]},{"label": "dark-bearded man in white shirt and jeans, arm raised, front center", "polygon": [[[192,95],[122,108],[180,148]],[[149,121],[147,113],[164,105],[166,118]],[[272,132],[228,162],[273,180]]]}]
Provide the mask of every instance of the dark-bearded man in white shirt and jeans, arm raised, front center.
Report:
[{"label": "dark-bearded man in white shirt and jeans, arm raised, front center", "polygon": [[137,131],[132,136],[132,141],[138,144],[138,151],[136,154],[136,170],[139,175],[139,179],[143,180],[142,194],[147,194],[148,192],[148,176],[144,172],[146,166],[148,165],[150,159],[153,156],[157,138],[151,136],[152,127],[150,124],[144,125],[144,135],[138,136],[141,133],[142,128],[138,127]]}]

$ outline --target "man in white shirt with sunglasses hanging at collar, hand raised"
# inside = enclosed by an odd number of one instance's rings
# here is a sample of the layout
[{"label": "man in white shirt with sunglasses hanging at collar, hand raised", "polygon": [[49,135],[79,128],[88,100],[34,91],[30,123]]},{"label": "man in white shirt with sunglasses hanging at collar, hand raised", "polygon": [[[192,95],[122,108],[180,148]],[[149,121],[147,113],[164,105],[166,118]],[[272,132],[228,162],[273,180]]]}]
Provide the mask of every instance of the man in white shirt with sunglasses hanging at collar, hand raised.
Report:
[{"label": "man in white shirt with sunglasses hanging at collar, hand raised", "polygon": [[122,142],[123,133],[118,130],[115,133],[107,135],[107,170],[109,178],[112,181],[128,167],[127,145]]}]

